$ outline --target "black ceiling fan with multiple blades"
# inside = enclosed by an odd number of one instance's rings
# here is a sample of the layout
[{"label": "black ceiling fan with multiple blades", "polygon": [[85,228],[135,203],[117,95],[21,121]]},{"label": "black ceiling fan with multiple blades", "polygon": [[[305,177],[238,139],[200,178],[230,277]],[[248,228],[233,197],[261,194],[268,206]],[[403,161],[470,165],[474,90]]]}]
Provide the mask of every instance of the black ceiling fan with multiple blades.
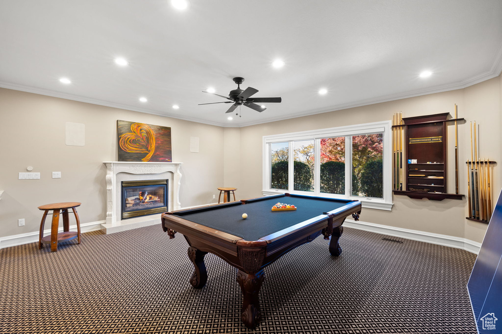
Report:
[{"label": "black ceiling fan with multiple blades", "polygon": [[225,114],[231,113],[232,111],[235,110],[235,108],[237,108],[238,106],[242,106],[242,105],[246,106],[248,108],[254,109],[254,110],[261,113],[262,111],[264,111],[267,108],[259,106],[256,103],[267,103],[267,102],[279,103],[282,101],[281,98],[252,98],[251,96],[258,93],[258,90],[254,89],[253,87],[247,87],[245,90],[241,90],[240,84],[242,84],[243,81],[244,81],[244,78],[241,78],[241,77],[233,78],[233,82],[237,84],[237,89],[230,91],[230,94],[228,94],[228,97],[202,91],[204,93],[217,95],[219,97],[222,97],[223,99],[227,99],[230,101],[201,103],[201,104],[199,104],[199,106],[204,105],[204,104],[215,104],[215,103],[233,103],[233,105],[226,111]]}]

